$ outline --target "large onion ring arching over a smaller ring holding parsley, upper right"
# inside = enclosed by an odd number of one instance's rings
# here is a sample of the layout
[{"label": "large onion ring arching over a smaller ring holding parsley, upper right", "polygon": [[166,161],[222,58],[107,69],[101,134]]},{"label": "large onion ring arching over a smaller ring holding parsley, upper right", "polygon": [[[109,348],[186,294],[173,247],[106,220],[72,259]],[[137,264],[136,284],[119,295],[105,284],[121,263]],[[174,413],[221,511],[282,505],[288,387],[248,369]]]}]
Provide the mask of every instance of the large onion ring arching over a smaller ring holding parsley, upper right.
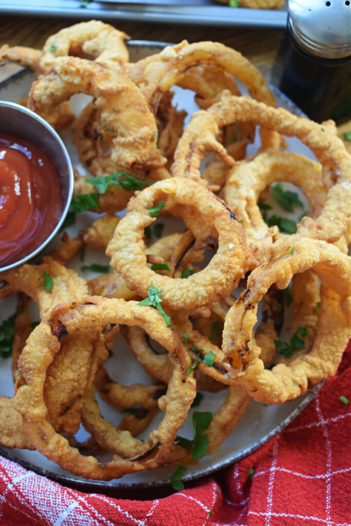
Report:
[{"label": "large onion ring arching over a smaller ring holding parsley, upper right", "polygon": [[[297,233],[288,239],[292,243],[300,237],[337,241],[350,222],[350,156],[342,141],[328,125],[297,117],[283,108],[275,109],[257,103],[249,97],[235,97],[224,92],[220,103],[213,105],[207,112],[193,114],[178,144],[173,175],[199,179],[199,162],[203,153],[209,149],[217,151],[226,160],[226,151],[217,143],[215,136],[219,127],[233,121],[254,122],[289,137],[295,136],[313,151],[322,164],[327,200],[319,217],[304,217],[297,226]],[[206,130],[205,135],[198,134],[198,129]],[[285,238],[280,240],[275,248],[278,249],[284,244]]]}]

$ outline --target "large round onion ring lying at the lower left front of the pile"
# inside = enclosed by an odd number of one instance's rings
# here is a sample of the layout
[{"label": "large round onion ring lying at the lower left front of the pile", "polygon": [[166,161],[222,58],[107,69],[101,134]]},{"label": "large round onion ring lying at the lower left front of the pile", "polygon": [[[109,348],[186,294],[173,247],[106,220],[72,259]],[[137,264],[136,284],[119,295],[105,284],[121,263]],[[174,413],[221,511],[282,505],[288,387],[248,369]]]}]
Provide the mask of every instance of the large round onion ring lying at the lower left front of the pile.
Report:
[{"label": "large round onion ring lying at the lower left front of the pile", "polygon": [[[41,322],[27,340],[19,359],[20,376],[15,395],[16,409],[23,416],[23,428],[37,450],[64,469],[99,480],[122,477],[125,473],[151,469],[165,462],[175,433],[195,397],[195,380],[192,375],[186,375],[190,365],[186,350],[176,333],[166,328],[162,316],[153,308],[137,306],[134,301],[88,297],[71,306],[58,306],[49,323]],[[165,417],[138,449],[138,456],[99,463],[93,457],[83,457],[55,432],[46,418],[43,386],[47,368],[60,348],[60,339],[67,333],[114,323],[143,327],[169,351],[174,372],[166,395],[158,401]]]}]

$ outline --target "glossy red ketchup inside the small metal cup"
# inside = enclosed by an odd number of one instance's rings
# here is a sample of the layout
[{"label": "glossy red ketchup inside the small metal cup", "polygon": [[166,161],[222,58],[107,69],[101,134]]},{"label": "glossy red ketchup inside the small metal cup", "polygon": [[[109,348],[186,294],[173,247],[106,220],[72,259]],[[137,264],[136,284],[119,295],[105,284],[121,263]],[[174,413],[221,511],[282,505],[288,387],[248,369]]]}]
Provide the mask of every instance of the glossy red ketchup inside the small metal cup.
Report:
[{"label": "glossy red ketchup inside the small metal cup", "polygon": [[31,254],[61,214],[61,181],[48,155],[25,139],[0,134],[0,265]]}]

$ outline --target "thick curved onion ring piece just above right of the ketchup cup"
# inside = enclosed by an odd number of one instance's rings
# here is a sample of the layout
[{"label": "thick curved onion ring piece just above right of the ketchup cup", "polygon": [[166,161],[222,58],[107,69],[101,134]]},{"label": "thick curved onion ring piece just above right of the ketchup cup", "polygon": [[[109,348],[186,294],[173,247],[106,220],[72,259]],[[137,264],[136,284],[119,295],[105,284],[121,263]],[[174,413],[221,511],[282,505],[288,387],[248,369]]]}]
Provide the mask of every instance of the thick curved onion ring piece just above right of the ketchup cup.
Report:
[{"label": "thick curved onion ring piece just above right of the ketchup cup", "polygon": [[123,67],[108,68],[78,57],[56,58],[51,73],[33,83],[29,107],[46,112],[76,93],[96,99],[102,126],[112,136],[116,164],[143,169],[164,165],[165,159],[156,147],[155,119]]}]

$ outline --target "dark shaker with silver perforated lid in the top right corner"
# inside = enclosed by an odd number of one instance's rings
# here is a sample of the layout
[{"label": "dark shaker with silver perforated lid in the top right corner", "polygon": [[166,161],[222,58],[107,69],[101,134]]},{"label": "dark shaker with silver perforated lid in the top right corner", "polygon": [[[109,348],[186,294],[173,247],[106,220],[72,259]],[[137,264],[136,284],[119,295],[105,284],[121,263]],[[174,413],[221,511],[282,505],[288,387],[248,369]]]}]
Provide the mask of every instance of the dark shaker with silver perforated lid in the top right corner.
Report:
[{"label": "dark shaker with silver perforated lid in the top right corner", "polygon": [[350,0],[288,1],[272,80],[317,122],[351,118]]}]

